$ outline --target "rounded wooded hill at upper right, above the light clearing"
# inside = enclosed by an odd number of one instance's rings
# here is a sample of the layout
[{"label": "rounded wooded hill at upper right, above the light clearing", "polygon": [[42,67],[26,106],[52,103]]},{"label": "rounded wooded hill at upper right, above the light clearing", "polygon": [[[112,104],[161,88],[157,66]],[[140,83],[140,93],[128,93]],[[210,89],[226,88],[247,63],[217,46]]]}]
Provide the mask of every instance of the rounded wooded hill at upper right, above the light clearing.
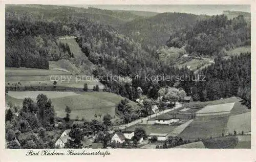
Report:
[{"label": "rounded wooded hill at upper right, above the light clearing", "polygon": [[246,22],[243,15],[231,20],[224,15],[211,16],[172,34],[167,45],[185,46],[191,56],[225,56],[226,51],[250,45],[250,22]]}]

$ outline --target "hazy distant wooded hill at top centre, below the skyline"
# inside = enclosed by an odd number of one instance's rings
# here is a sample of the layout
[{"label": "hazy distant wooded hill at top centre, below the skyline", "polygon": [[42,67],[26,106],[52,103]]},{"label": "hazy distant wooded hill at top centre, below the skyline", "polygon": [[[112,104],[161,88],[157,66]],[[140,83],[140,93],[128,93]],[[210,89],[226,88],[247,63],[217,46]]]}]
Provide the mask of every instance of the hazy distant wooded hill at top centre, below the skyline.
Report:
[{"label": "hazy distant wooded hill at top centre, below the skyline", "polygon": [[121,25],[120,32],[129,35],[143,46],[164,45],[169,35],[190,27],[198,16],[187,13],[160,13],[152,17],[135,19]]}]

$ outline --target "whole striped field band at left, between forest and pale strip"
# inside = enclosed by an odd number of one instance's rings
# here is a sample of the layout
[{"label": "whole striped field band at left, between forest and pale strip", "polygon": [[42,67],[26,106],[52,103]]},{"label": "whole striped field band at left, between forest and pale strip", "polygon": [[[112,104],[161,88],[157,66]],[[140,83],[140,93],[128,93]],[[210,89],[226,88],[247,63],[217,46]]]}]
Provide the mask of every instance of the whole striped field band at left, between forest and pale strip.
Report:
[{"label": "whole striped field band at left, between forest and pale strip", "polygon": [[[56,80],[57,87],[80,88],[82,89],[84,83],[88,84],[89,89],[93,89],[98,84],[99,89],[103,89],[103,85],[93,76],[88,75],[71,75],[71,73],[57,71],[57,70],[35,70],[27,68],[9,68],[6,71],[5,86],[9,90],[14,90],[14,85],[20,89],[26,90],[25,86],[35,88],[34,90],[44,90],[53,87],[53,81]],[[31,71],[31,73],[30,73]],[[19,89],[18,88],[18,89]],[[32,90],[32,89],[30,89]]]}]

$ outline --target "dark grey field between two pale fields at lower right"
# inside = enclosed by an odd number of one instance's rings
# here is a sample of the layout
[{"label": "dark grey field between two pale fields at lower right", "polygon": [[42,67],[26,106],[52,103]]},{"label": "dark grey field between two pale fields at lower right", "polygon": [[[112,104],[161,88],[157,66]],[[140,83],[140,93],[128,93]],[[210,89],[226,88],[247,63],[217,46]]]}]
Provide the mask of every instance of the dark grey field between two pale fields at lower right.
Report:
[{"label": "dark grey field between two pale fields at lower right", "polygon": [[226,132],[228,115],[197,117],[180,134],[186,140],[221,136]]}]

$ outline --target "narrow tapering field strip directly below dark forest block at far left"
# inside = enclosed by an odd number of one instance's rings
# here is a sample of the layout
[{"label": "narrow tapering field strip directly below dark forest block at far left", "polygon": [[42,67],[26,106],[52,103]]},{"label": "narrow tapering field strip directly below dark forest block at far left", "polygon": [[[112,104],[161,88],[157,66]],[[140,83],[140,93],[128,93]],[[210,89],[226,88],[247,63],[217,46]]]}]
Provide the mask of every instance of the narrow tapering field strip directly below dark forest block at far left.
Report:
[{"label": "narrow tapering field strip directly below dark forest block at far left", "polygon": [[44,70],[36,68],[6,67],[5,76],[45,76],[45,75],[70,75],[70,73],[57,70]]}]

